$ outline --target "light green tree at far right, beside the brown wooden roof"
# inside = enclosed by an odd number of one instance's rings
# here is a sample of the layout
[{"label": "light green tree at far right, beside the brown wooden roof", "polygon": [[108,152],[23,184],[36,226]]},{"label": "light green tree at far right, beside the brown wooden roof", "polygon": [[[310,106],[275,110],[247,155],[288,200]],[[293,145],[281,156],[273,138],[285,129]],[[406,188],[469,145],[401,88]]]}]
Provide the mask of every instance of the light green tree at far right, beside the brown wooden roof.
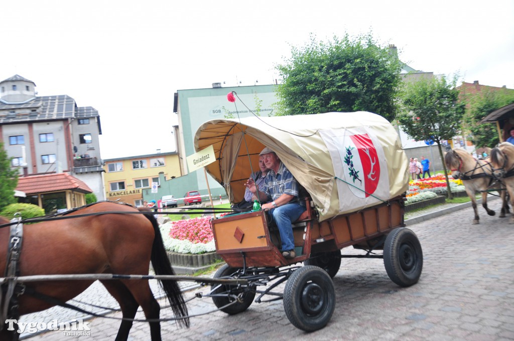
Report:
[{"label": "light green tree at far right, beside the brown wooden roof", "polygon": [[510,103],[514,103],[514,91],[483,91],[481,94],[468,94],[463,99],[466,104],[464,128],[471,133],[471,140],[476,147],[494,147],[500,142],[494,123],[482,123],[480,120]]}]

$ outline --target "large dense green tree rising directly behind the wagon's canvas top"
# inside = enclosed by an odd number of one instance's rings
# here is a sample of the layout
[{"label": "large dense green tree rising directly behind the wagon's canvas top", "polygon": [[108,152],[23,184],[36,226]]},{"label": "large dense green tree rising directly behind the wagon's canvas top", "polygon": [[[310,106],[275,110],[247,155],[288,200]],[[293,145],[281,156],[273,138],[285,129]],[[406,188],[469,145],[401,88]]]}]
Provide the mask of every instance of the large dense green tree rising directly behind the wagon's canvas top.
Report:
[{"label": "large dense green tree rising directly behind the wagon's canvas top", "polygon": [[369,111],[389,121],[396,115],[401,63],[371,33],[328,42],[311,36],[276,69],[283,79],[278,115]]}]

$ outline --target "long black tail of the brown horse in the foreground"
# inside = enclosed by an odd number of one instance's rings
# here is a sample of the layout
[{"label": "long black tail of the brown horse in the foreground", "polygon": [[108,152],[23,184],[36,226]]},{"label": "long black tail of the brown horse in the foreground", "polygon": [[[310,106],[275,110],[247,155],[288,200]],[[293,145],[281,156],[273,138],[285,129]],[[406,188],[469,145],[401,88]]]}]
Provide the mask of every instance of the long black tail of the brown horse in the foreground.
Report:
[{"label": "long black tail of the brown horse in the foreground", "polygon": [[[154,268],[156,275],[175,275],[173,268],[170,264],[170,259],[166,254],[166,249],[164,248],[164,243],[162,242],[162,236],[159,230],[159,224],[157,220],[153,216],[153,214],[145,214],[145,217],[148,218],[154,227],[155,238],[154,243],[152,244],[152,266]],[[182,292],[178,286],[176,280],[161,280],[159,281],[161,284],[164,293],[168,297],[168,300],[171,303],[171,308],[173,309],[173,314],[175,317],[185,317],[188,316],[188,307],[186,306],[186,302],[182,297]],[[188,327],[190,325],[189,318],[181,318],[178,320],[179,324],[184,327]]]}]

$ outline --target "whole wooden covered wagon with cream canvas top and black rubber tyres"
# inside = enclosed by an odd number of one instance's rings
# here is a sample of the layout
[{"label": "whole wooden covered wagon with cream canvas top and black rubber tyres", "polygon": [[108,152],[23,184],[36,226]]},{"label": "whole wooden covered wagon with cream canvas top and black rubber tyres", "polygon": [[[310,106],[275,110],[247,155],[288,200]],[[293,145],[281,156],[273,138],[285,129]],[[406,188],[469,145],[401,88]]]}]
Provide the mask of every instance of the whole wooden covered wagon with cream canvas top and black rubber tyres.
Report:
[{"label": "whole wooden covered wagon with cream canvas top and black rubber tyres", "polygon": [[[194,146],[196,151],[213,146],[216,161],[206,169],[232,203],[243,199],[244,184],[264,147],[280,157],[305,189],[307,210],[293,223],[293,259],[282,256],[280,235],[267,212],[211,220],[216,251],[227,262],[215,277],[251,279],[247,286],[213,286],[216,306],[234,303],[223,311],[242,312],[257,293],[256,301],[273,294],[283,298],[296,327],[324,327],[335,304],[331,277],[346,257],[340,249],[347,246],[364,250],[355,257],[383,257],[395,283],[417,282],[421,246],[414,232],[403,227],[409,163],[397,131],[383,117],[333,112],[217,119],[198,128]],[[293,266],[299,262],[305,266]],[[271,279],[287,281],[284,294],[258,290]]]}]

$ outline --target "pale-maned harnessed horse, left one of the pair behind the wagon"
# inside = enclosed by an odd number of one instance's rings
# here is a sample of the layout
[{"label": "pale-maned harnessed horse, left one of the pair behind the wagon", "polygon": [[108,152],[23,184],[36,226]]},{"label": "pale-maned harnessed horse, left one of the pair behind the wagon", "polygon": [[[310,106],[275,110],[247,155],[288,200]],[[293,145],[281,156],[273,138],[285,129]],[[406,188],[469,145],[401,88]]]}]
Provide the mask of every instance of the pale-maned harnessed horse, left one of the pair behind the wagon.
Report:
[{"label": "pale-maned harnessed horse, left one of the pair behind the wagon", "polygon": [[502,191],[502,184],[497,181],[492,173],[491,166],[488,158],[476,160],[466,150],[462,148],[453,148],[445,154],[445,163],[452,171],[452,176],[455,179],[461,179],[466,193],[471,199],[475,217],[473,224],[480,222],[479,212],[476,208],[475,193],[482,193],[482,206],[487,211],[489,216],[494,216],[494,211],[487,207],[487,191],[496,189],[500,192],[503,204],[500,212],[500,218],[505,217],[505,212],[508,212],[508,204],[505,200],[505,191]]}]

